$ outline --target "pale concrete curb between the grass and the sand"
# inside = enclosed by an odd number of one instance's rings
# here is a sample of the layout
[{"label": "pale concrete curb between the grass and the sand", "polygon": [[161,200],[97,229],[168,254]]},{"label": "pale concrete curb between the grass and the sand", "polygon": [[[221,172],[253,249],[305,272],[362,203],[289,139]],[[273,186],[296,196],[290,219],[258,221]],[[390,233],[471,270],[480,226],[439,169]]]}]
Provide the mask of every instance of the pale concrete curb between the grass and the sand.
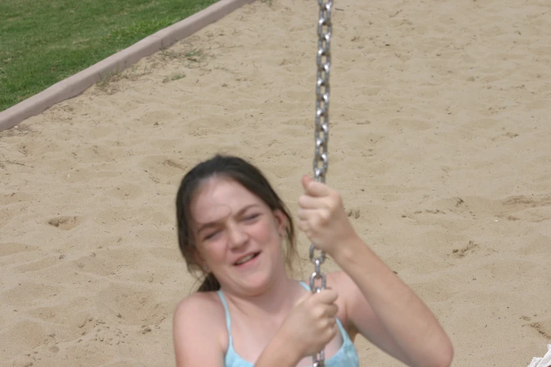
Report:
[{"label": "pale concrete curb between the grass and the sand", "polygon": [[45,91],[0,112],[0,131],[11,129],[28,117],[38,115],[51,106],[78,96],[110,72],[120,72],[141,58],[150,56],[180,39],[189,37],[201,28],[216,22],[225,15],[255,0],[220,0],[190,17],[129,46],[105,60],[62,80]]}]

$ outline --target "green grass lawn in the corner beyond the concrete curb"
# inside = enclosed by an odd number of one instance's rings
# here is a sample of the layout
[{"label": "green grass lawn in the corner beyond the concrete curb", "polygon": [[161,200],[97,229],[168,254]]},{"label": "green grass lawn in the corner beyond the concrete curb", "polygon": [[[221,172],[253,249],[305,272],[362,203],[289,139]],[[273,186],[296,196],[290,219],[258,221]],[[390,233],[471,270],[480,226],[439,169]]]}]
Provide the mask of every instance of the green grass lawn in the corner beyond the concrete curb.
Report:
[{"label": "green grass lawn in the corner beyond the concrete curb", "polygon": [[0,0],[0,111],[216,0]]}]

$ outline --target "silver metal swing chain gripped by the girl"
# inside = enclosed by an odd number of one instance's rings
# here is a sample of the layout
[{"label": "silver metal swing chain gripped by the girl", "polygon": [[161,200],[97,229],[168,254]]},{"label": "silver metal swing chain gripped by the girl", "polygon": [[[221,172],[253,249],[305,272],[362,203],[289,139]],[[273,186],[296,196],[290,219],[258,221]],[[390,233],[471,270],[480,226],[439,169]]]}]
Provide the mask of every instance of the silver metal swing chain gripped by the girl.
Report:
[{"label": "silver metal swing chain gripped by the girl", "polygon": [[[316,84],[316,118],[315,118],[315,154],[314,176],[315,180],[325,184],[327,174],[327,141],[329,140],[329,67],[331,66],[331,8],[333,0],[318,0],[319,20],[317,22],[317,84]],[[310,276],[310,289],[312,292],[321,292],[325,289],[325,274],[321,265],[325,261],[325,253],[321,251],[319,257],[315,257],[315,244],[310,245],[310,261],[315,265],[315,270]],[[316,285],[316,281],[321,283]],[[324,351],[321,350],[312,356],[312,367],[324,367]]]}]

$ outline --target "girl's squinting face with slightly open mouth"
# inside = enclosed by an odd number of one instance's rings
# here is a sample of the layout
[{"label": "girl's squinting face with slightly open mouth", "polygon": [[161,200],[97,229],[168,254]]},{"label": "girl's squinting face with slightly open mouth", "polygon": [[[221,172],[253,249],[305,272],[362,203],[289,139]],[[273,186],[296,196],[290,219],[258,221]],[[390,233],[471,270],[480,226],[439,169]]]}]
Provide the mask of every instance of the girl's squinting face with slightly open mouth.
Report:
[{"label": "girl's squinting face with slightly open mouth", "polygon": [[197,261],[220,285],[254,295],[285,273],[286,217],[232,179],[213,177],[191,202]]}]

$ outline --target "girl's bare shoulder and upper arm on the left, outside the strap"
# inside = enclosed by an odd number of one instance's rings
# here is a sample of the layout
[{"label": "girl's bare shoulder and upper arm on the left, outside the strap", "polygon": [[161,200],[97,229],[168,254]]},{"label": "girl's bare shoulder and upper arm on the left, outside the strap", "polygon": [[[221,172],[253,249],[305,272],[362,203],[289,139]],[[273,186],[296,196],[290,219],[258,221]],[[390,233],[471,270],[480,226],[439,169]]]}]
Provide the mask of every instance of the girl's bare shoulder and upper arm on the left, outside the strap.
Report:
[{"label": "girl's bare shoulder and upper arm on the left, outside the strap", "polygon": [[223,366],[227,350],[224,309],[215,292],[199,292],[177,305],[172,326],[177,366]]}]

